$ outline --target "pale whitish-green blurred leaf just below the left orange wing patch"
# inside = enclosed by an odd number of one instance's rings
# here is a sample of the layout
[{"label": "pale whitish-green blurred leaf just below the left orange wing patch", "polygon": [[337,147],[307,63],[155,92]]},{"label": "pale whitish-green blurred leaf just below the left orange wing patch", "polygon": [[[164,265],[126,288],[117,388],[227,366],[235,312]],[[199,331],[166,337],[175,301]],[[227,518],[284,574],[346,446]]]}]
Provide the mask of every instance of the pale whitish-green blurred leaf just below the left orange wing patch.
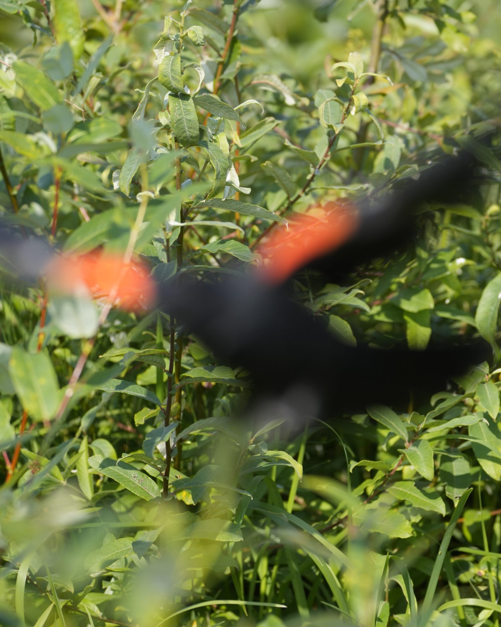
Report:
[{"label": "pale whitish-green blurred leaf just below the left orange wing patch", "polygon": [[71,339],[94,337],[98,330],[98,310],[87,295],[54,295],[48,314],[56,327]]}]

